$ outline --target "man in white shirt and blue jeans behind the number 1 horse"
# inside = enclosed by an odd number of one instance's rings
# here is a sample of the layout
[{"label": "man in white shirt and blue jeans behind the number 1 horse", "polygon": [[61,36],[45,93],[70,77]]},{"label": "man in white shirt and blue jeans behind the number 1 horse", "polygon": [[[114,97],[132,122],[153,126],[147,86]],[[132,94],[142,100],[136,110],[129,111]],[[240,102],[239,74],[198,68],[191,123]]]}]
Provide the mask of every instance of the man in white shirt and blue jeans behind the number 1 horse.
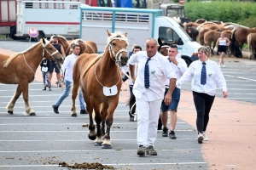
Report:
[{"label": "man in white shirt and blue jeans behind the number 1 horse", "polygon": [[[60,98],[56,101],[55,105],[52,105],[54,112],[59,114],[59,106],[61,105],[62,101],[67,98],[70,94],[70,88],[73,85],[73,65],[79,57],[80,47],[78,44],[73,45],[73,54],[67,55],[66,59],[64,60],[63,65],[61,66],[61,77],[65,77],[65,89],[63,94],[61,94]],[[79,103],[80,103],[80,114],[85,114],[87,111],[85,110],[85,102],[82,92],[79,92]],[[77,116],[77,114],[72,114],[71,116]]]}]

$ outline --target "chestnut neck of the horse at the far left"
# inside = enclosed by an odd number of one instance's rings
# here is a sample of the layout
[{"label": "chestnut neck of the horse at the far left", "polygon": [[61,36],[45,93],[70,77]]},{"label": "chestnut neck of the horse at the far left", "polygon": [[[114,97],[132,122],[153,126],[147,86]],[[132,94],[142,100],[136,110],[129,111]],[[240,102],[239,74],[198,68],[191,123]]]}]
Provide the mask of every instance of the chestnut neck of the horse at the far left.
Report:
[{"label": "chestnut neck of the horse at the far left", "polygon": [[[38,43],[34,48],[29,49],[25,53],[20,54],[21,57],[26,59],[27,65],[29,65],[33,71],[36,72],[38,69],[38,65],[41,63],[43,59],[43,45],[42,43]],[[44,52],[45,55],[46,52]],[[24,55],[24,56],[23,56]]]}]

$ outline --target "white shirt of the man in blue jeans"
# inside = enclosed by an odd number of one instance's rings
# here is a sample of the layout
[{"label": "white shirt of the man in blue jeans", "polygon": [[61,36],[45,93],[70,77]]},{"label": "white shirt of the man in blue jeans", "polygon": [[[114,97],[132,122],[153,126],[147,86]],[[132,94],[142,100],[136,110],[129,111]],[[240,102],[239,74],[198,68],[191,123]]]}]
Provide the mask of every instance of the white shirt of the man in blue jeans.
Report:
[{"label": "white shirt of the man in blue jeans", "polygon": [[65,72],[65,80],[68,82],[73,82],[73,65],[78,57],[75,54],[68,55],[61,66],[61,70],[63,73]]}]

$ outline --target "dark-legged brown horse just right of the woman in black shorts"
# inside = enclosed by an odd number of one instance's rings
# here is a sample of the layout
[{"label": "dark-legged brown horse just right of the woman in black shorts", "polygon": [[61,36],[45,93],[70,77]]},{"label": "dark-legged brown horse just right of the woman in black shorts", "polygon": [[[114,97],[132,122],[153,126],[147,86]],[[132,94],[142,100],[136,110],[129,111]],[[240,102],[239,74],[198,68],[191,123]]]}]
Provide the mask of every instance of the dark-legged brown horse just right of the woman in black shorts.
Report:
[{"label": "dark-legged brown horse just right of the woman in black shorts", "polygon": [[247,36],[249,33],[256,33],[256,28],[248,29],[245,27],[239,27],[232,34],[231,52],[238,58],[242,57],[242,45],[247,42]]}]

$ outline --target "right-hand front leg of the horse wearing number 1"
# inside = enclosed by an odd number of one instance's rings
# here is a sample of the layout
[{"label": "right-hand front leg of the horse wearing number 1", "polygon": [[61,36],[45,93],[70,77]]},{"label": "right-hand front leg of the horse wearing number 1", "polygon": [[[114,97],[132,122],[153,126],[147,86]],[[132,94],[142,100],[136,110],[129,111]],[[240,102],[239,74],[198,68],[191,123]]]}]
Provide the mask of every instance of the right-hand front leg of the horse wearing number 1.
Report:
[{"label": "right-hand front leg of the horse wearing number 1", "polygon": [[107,125],[107,131],[104,135],[104,141],[102,143],[102,149],[112,149],[112,145],[110,142],[110,127],[113,123],[113,111],[118,105],[118,98],[115,100],[112,100],[111,103],[108,104],[108,116],[106,117],[106,125]]}]

